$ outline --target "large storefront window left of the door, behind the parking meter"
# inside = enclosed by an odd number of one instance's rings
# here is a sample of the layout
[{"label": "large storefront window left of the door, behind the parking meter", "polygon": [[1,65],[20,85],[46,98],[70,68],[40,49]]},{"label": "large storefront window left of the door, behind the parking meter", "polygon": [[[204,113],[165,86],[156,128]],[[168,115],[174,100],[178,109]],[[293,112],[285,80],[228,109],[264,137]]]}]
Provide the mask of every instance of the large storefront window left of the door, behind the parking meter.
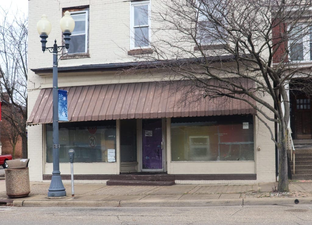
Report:
[{"label": "large storefront window left of the door, behind the parking meter", "polygon": [[[52,124],[46,125],[46,162],[52,163]],[[60,162],[68,163],[68,150],[75,150],[74,162],[115,162],[116,121],[59,123]]]}]

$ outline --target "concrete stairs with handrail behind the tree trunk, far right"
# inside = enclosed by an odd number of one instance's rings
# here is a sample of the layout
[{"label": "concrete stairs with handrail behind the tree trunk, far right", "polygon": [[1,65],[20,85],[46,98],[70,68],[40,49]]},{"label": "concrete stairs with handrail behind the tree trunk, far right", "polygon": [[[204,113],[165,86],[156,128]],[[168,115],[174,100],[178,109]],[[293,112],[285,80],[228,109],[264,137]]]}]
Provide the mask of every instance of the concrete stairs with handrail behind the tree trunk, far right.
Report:
[{"label": "concrete stairs with handrail behind the tree trunk, far right", "polygon": [[293,161],[288,153],[291,178],[293,180],[312,180],[312,148],[302,149],[295,146],[295,174],[293,173]]}]

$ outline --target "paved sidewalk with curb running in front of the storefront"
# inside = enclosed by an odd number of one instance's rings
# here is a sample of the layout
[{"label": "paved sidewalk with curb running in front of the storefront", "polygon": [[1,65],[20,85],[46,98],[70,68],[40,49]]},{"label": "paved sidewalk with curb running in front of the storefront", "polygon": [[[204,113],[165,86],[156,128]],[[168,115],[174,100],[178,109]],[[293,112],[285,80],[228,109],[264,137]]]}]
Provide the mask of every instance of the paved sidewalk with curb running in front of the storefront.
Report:
[{"label": "paved sidewalk with curb running in front of the storefront", "polygon": [[106,186],[105,184],[75,184],[75,198],[71,198],[71,184],[64,183],[67,196],[47,198],[50,183],[31,182],[29,196],[10,199],[6,195],[5,180],[0,178],[0,204],[38,207],[126,207],[126,206],[228,206],[263,204],[312,203],[312,181],[290,183],[290,192],[271,193],[274,183],[248,185],[177,184],[173,186]]}]

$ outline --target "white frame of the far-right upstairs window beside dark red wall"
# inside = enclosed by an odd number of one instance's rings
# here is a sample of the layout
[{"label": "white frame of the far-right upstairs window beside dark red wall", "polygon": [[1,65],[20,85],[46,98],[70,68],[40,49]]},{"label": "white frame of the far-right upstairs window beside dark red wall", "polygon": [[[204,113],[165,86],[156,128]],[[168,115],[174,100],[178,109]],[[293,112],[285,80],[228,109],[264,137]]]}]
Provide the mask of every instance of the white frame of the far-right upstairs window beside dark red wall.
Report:
[{"label": "white frame of the far-right upstairs window beside dark red wall", "polygon": [[[304,23],[299,23],[297,24],[298,26],[304,26]],[[292,25],[292,27],[294,28],[294,25]],[[290,28],[290,26],[288,26],[288,29]],[[309,27],[306,28],[301,28],[301,32],[303,32],[305,35],[302,36],[302,44],[303,44],[303,60],[292,60],[291,59],[291,54],[290,54],[290,46],[288,46],[288,59],[290,60],[290,62],[310,62],[312,61],[311,58],[311,51],[312,49],[310,48],[310,43],[312,43],[312,39],[310,40],[310,33],[312,32],[311,29],[309,29]],[[310,30],[310,31],[309,31]],[[301,35],[301,34],[300,34]],[[291,42],[290,40],[288,41],[288,43]],[[293,42],[292,42],[293,44]]]}]

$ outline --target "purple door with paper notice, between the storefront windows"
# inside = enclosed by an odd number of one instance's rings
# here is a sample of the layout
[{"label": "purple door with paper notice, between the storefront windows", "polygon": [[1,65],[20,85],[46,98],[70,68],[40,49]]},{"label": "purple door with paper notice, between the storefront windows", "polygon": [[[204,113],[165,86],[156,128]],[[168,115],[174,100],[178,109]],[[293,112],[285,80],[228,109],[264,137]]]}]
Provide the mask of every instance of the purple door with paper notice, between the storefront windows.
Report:
[{"label": "purple door with paper notice, between the storefront windows", "polygon": [[142,120],[142,169],[163,169],[161,119]]}]

